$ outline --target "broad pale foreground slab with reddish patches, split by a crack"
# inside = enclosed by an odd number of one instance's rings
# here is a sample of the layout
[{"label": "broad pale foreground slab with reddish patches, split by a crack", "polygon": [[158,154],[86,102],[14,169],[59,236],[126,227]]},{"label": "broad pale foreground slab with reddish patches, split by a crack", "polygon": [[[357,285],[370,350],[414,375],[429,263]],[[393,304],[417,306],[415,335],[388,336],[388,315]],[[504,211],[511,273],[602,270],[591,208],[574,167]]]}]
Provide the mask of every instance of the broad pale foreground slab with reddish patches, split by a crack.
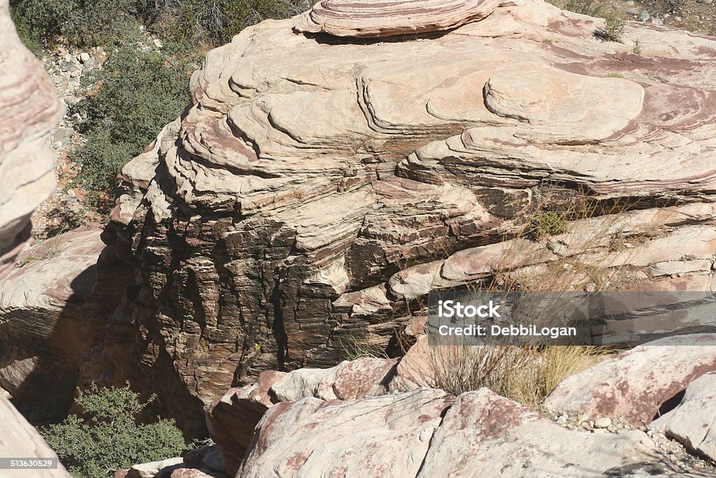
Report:
[{"label": "broad pale foreground slab with reddish patches, split by a crack", "polygon": [[280,403],[258,424],[237,476],[603,477],[658,457],[642,431],[568,431],[487,388],[457,399],[422,389]]}]

